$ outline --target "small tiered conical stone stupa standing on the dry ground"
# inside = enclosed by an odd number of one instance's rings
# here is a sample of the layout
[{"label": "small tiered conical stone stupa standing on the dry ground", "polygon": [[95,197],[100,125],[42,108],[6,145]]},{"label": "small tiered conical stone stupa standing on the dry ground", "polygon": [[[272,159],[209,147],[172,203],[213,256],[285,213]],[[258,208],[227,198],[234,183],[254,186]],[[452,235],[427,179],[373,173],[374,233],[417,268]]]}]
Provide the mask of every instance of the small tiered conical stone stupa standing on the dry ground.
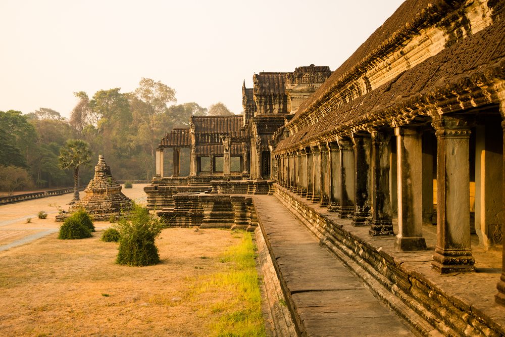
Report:
[{"label": "small tiered conical stone stupa standing on the dry ground", "polygon": [[83,207],[93,220],[109,220],[131,209],[132,201],[121,192],[121,185],[111,175],[104,155],[98,155],[95,175],[84,190],[84,198],[70,208],[70,213]]}]

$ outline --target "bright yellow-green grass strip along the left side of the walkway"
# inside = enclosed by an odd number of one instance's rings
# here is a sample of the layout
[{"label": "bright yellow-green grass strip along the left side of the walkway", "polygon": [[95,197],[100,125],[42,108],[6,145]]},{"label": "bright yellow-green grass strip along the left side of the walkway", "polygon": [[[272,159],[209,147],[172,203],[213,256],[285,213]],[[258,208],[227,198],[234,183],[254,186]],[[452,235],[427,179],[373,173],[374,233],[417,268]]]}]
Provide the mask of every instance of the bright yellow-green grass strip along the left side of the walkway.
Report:
[{"label": "bright yellow-green grass strip along the left side of the walkway", "polygon": [[190,299],[209,292],[215,296],[226,294],[222,301],[201,308],[213,336],[265,335],[256,247],[250,233],[243,232],[241,237],[240,244],[230,247],[219,258],[220,262],[227,263],[226,271],[202,275],[190,282]]}]

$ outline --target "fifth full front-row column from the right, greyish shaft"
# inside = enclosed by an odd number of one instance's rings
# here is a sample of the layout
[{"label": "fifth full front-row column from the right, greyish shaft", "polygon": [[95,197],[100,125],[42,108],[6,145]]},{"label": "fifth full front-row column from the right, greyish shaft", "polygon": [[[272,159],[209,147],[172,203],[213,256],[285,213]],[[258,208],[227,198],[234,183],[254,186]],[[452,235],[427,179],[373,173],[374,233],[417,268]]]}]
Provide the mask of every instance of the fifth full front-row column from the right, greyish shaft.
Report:
[{"label": "fifth full front-row column from the right, greyish shaft", "polygon": [[340,206],[341,218],[348,218],[354,212],[355,179],[354,151],[350,138],[338,138],[340,149]]}]

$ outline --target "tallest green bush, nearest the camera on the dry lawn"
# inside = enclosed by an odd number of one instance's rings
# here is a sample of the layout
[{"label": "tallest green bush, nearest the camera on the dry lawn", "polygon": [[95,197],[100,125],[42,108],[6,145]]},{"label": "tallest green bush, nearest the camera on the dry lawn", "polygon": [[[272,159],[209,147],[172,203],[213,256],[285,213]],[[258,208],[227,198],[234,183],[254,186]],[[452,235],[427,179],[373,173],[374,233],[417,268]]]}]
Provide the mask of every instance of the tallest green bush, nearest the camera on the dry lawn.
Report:
[{"label": "tallest green bush, nearest the camera on the dry lawn", "polygon": [[119,220],[119,251],[116,263],[129,266],[149,266],[160,262],[155,239],[162,226],[146,208],[133,205],[127,218]]}]

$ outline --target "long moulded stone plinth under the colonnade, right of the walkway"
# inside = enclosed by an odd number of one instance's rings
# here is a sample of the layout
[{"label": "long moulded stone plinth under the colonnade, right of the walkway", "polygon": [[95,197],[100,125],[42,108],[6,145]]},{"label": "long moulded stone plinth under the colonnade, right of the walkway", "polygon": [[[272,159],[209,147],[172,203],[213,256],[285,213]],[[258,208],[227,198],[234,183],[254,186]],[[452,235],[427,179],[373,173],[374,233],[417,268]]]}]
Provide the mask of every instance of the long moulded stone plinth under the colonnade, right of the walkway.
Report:
[{"label": "long moulded stone plinth under the colonnade, right of the walkway", "polygon": [[320,239],[321,245],[354,270],[378,298],[421,334],[432,335],[438,330],[450,336],[505,335],[503,317],[498,318],[500,308],[496,309],[498,314],[491,316],[489,310],[474,308],[461,298],[447,294],[382,246],[374,246],[374,240],[366,240],[346,229],[352,227],[328,219],[285,188],[274,184],[274,189],[274,195]]}]

